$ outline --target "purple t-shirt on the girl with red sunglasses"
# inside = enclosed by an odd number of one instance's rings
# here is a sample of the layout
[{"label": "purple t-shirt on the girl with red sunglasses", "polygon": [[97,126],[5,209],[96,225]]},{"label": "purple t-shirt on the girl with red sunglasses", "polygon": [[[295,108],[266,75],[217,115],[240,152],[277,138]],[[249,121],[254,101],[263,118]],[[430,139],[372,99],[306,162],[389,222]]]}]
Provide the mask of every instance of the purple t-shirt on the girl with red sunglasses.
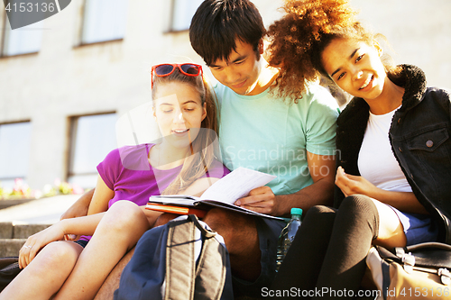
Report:
[{"label": "purple t-shirt on the girl with red sunglasses", "polygon": [[[112,150],[97,166],[98,174],[106,186],[115,192],[113,199],[108,202],[108,208],[119,200],[132,201],[140,206],[146,205],[151,195],[161,195],[161,192],[179,175],[182,165],[167,170],[152,168],[148,157],[153,145],[125,146]],[[228,173],[230,171],[215,160],[203,177],[221,178]],[[89,238],[83,236],[81,239],[89,240]]]}]

